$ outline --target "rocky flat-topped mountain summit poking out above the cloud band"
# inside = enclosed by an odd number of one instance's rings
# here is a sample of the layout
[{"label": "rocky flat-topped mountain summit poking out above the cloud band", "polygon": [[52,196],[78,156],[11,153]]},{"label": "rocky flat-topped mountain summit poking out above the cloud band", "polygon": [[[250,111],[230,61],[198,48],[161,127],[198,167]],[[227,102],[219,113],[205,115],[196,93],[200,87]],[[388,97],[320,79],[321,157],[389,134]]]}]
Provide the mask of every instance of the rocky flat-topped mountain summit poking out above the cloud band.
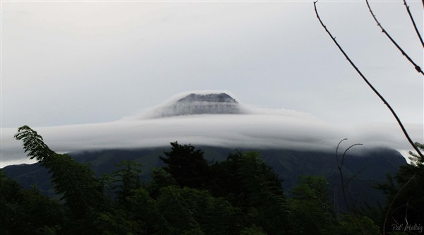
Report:
[{"label": "rocky flat-topped mountain summit poking out above the cloud band", "polygon": [[151,118],[197,114],[245,114],[239,102],[225,92],[190,93],[167,102],[153,111]]}]

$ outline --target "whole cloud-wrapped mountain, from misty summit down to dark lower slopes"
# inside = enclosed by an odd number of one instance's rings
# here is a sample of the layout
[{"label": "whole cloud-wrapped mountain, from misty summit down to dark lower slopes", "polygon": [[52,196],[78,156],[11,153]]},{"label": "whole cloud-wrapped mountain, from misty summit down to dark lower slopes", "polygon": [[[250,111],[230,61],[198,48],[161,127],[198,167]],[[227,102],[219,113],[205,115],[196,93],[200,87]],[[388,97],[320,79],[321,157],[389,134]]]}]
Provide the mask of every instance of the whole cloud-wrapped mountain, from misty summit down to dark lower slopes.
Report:
[{"label": "whole cloud-wrapped mountain, from misty summit down to dark lower slopes", "polygon": [[[364,129],[358,129],[358,134],[355,128],[338,128],[310,114],[247,107],[228,92],[177,95],[148,112],[110,123],[35,130],[52,150],[69,152],[78,162],[90,164],[98,176],[114,171],[114,164],[123,159],[139,162],[144,181],[154,167],[162,166],[159,156],[170,150],[170,142],[192,144],[204,150],[209,161],[223,160],[235,149],[258,150],[284,180],[285,191],[289,192],[299,176],[325,176],[336,202],[342,200],[334,150],[341,139],[353,136],[353,143],[366,146],[350,150],[343,164],[344,179],[360,172],[350,185],[352,198],[358,202],[382,202],[384,196],[372,186],[406,164],[404,157],[389,147],[396,143],[392,134]],[[20,143],[11,138],[16,130],[2,131],[4,159],[24,159]],[[54,195],[49,174],[39,164],[11,165],[4,171],[25,188],[36,185],[43,193]]]}]

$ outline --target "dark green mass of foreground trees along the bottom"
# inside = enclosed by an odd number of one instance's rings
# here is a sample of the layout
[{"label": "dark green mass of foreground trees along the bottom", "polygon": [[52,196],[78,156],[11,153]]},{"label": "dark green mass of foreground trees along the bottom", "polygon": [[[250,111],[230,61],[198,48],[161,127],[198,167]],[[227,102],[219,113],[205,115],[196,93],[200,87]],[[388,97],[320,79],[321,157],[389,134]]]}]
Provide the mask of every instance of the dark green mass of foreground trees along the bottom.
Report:
[{"label": "dark green mass of foreground trees along the bottom", "polygon": [[[361,210],[348,198],[348,212],[335,210],[323,176],[302,176],[284,190],[258,152],[232,152],[211,162],[202,150],[175,142],[159,157],[163,167],[142,181],[138,162],[122,161],[111,174],[96,176],[88,164],[50,150],[28,126],[16,138],[49,171],[60,200],[36,187],[23,189],[1,171],[1,234],[379,234],[384,224],[399,221],[405,206],[408,221],[423,218],[418,160],[402,166],[395,181],[380,184],[396,204],[387,222],[387,205]],[[346,181],[355,177],[346,175]]]}]

